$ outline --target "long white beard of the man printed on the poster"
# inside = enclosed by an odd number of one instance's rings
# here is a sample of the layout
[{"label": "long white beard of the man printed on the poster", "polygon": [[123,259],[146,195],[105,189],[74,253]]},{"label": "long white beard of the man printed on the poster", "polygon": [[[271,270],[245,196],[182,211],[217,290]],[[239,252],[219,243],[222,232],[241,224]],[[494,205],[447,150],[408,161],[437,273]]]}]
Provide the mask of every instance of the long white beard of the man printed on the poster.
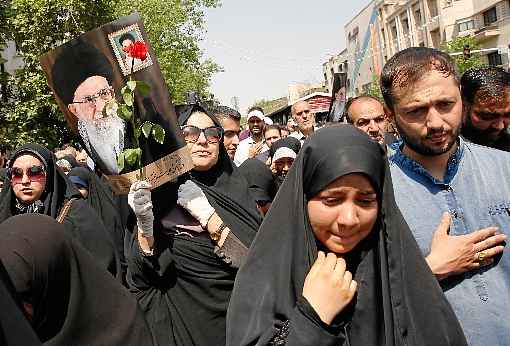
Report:
[{"label": "long white beard of the man printed on the poster", "polygon": [[108,170],[105,173],[118,174],[117,156],[124,150],[124,121],[116,115],[100,121],[78,120],[78,132],[94,161],[100,160]]}]

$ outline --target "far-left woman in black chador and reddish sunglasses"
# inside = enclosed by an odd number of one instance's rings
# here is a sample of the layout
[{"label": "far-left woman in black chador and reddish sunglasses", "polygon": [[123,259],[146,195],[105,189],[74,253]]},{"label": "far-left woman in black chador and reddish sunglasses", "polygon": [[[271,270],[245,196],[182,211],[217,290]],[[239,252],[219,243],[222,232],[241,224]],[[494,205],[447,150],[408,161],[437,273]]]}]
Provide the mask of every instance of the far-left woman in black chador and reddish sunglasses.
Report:
[{"label": "far-left woman in black chador and reddish sunglasses", "polygon": [[9,184],[0,193],[0,222],[27,213],[51,216],[61,222],[103,268],[113,275],[120,272],[109,231],[73,183],[57,168],[51,151],[39,144],[23,145],[13,153],[9,171]]}]

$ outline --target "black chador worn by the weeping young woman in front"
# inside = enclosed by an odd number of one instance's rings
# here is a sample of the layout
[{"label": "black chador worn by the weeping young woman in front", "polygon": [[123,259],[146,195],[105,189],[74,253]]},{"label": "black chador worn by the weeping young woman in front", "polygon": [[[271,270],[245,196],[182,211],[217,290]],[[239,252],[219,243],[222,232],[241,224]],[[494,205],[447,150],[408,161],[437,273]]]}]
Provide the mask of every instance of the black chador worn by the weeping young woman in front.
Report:
[{"label": "black chador worn by the weeping young woman in front", "polygon": [[[334,321],[338,329],[329,329],[321,326],[302,297],[318,248],[307,201],[351,173],[370,179],[380,211],[372,233],[344,256],[358,291]],[[296,317],[303,315],[297,310],[308,310],[304,313],[308,318]],[[317,327],[305,330],[307,323]],[[313,345],[466,345],[395,204],[380,146],[352,126],[321,129],[303,146],[237,275],[227,315],[227,345],[276,341],[294,346],[311,341]]]}]

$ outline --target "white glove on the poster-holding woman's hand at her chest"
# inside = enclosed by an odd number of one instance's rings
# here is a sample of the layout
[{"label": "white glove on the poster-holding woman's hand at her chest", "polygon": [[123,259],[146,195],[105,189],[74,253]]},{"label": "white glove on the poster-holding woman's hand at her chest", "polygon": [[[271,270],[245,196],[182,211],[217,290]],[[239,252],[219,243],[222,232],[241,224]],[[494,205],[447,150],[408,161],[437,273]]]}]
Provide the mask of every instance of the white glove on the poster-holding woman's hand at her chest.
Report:
[{"label": "white glove on the poster-holding woman's hand at her chest", "polygon": [[191,180],[179,186],[177,204],[186,209],[204,228],[215,212],[202,189]]}]

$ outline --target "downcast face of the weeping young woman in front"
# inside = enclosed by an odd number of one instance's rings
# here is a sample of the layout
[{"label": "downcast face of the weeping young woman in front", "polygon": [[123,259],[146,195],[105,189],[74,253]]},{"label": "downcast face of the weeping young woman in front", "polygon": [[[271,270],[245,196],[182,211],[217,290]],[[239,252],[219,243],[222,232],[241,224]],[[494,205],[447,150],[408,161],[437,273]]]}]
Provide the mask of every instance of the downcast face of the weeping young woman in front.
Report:
[{"label": "downcast face of the weeping young woman in front", "polygon": [[308,202],[315,237],[337,254],[351,251],[365,239],[378,210],[376,192],[362,174],[336,179]]}]

